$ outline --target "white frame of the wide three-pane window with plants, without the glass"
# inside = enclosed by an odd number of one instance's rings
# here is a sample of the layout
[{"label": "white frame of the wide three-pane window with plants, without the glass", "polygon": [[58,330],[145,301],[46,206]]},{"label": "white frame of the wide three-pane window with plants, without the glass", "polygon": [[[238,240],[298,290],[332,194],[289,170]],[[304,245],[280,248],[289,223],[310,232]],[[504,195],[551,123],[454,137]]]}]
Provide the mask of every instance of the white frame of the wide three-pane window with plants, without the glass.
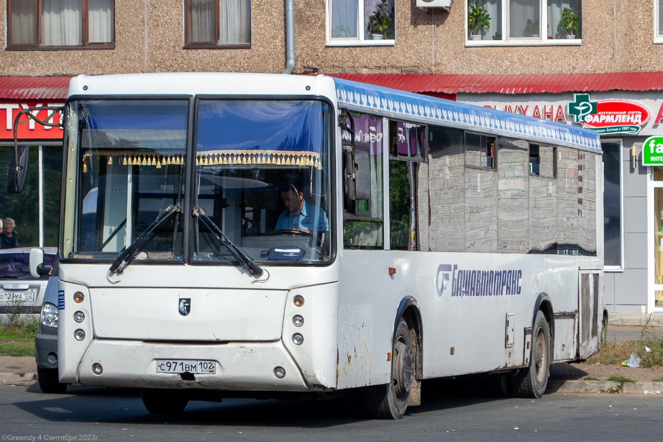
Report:
[{"label": "white frame of the wide three-pane window with plants, without the glass", "polygon": [[[509,0],[501,0],[502,2],[502,40],[469,40],[469,29],[467,28],[467,0],[465,1],[465,46],[580,46],[582,38],[554,38],[548,40],[548,32],[541,32],[540,38],[524,37],[524,38],[507,38],[509,35]],[[654,0],[658,1],[658,0]],[[548,29],[548,1],[539,0],[540,2],[540,17],[541,29]],[[543,37],[546,36],[544,39]],[[662,41],[663,42],[663,38]]]}]

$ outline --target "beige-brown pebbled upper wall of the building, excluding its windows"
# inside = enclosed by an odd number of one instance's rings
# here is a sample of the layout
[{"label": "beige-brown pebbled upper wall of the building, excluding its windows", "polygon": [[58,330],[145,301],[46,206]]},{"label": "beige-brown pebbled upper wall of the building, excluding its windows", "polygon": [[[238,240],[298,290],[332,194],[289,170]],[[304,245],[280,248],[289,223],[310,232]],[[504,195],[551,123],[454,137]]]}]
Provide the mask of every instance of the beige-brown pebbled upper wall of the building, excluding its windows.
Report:
[{"label": "beige-brown pebbled upper wall of the building, excluding its windows", "polygon": [[[284,1],[252,2],[251,48],[184,49],[183,0],[115,0],[115,48],[7,50],[0,10],[0,75],[282,72]],[[574,46],[465,44],[465,3],[424,11],[395,0],[395,44],[328,46],[326,0],[295,1],[298,73],[562,74],[660,70],[654,0],[587,0]]]}]

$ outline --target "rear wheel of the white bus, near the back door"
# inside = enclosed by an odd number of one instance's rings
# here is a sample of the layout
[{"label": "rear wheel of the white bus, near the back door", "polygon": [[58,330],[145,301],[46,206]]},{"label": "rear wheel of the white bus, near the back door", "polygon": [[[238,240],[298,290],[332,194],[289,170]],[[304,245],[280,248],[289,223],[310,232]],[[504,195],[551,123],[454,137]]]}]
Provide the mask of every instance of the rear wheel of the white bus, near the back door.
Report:
[{"label": "rear wheel of the white bus, near the back door", "polygon": [[550,329],[542,311],[536,313],[530,349],[530,366],[513,378],[514,393],[520,398],[540,398],[548,386],[550,374]]}]

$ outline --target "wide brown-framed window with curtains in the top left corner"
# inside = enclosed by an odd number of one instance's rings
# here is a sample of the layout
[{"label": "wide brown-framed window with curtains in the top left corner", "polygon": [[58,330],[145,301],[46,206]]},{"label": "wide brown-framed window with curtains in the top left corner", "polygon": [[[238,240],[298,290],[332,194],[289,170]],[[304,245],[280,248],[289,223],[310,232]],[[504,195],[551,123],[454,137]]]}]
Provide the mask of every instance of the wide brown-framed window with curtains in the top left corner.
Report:
[{"label": "wide brown-framed window with curtains in the top left corner", "polygon": [[113,47],[113,0],[8,0],[7,48]]}]

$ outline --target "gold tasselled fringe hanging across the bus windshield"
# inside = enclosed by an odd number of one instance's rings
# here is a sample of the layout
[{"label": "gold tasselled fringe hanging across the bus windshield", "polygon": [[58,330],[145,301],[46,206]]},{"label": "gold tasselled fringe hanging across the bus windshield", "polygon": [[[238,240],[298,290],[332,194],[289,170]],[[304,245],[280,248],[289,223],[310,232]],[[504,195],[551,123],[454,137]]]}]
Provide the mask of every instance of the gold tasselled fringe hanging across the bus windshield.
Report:
[{"label": "gold tasselled fringe hanging across the bus windshield", "polygon": [[[162,155],[146,152],[122,152],[117,150],[93,150],[83,154],[83,173],[88,172],[88,161],[92,155],[106,156],[108,164],[118,161],[123,165],[155,166],[160,169],[167,164],[184,165],[184,155]],[[113,160],[115,158],[115,160]],[[196,166],[217,164],[266,164],[274,166],[299,166],[322,169],[320,154],[294,150],[211,150],[196,155]]]}]

